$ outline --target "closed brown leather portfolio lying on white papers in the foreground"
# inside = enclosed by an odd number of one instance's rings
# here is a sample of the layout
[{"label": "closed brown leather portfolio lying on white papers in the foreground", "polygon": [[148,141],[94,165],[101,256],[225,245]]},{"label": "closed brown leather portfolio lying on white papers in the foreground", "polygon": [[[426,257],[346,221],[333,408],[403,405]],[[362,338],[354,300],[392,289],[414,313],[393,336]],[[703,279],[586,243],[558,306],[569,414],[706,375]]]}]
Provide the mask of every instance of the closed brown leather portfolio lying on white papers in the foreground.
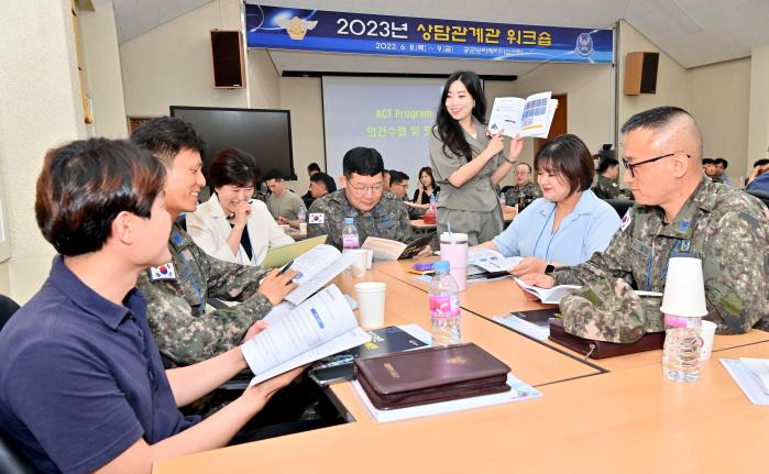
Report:
[{"label": "closed brown leather portfolio lying on white papers in the foreground", "polygon": [[380,410],[507,392],[509,372],[473,343],[355,360],[358,382]]}]

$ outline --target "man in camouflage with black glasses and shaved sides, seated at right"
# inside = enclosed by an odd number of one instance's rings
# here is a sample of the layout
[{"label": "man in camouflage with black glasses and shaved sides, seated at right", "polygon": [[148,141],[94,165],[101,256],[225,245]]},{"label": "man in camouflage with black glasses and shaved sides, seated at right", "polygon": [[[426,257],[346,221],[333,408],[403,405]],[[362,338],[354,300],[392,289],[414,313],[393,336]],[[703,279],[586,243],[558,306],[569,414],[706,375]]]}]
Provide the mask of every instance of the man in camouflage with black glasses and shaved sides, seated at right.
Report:
[{"label": "man in camouflage with black glasses and shaved sides, seated at right", "polygon": [[[625,180],[637,203],[620,230],[606,251],[586,263],[552,276],[526,275],[524,280],[546,288],[590,285],[583,296],[593,291],[596,301],[617,299],[622,284],[615,278],[661,293],[668,258],[694,256],[702,260],[705,319],[718,326],[717,332],[769,330],[769,211],[752,196],[703,176],[702,139],[684,110],[660,107],[638,113],[623,125],[623,134]],[[596,283],[600,279],[609,284]],[[573,300],[561,301],[567,309],[564,327],[584,338],[633,342],[644,332],[664,329],[661,298],[640,298],[641,318],[634,311],[600,315],[590,305],[572,305]]]}]

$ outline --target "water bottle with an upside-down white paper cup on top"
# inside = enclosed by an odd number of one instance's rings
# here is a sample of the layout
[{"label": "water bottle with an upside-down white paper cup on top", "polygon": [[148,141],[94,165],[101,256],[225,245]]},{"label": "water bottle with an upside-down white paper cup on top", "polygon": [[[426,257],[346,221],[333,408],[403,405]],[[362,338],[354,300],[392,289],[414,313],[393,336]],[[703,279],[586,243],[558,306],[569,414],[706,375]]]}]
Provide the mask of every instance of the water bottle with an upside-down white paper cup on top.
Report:
[{"label": "water bottle with an upside-down white paper cup on top", "polygon": [[700,378],[702,318],[664,315],[664,348],[662,372],[677,382]]}]

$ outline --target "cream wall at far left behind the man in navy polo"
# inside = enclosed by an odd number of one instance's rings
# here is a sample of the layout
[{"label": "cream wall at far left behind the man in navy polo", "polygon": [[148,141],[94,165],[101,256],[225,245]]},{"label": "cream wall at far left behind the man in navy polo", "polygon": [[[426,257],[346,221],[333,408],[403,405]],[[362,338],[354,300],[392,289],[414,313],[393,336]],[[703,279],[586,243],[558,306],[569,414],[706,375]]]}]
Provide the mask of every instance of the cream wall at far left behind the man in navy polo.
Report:
[{"label": "cream wall at far left behind the man in navy polo", "polygon": [[17,2],[0,15],[0,195],[11,257],[0,293],[26,301],[47,277],[53,247],[34,217],[45,152],[86,133],[69,0]]}]

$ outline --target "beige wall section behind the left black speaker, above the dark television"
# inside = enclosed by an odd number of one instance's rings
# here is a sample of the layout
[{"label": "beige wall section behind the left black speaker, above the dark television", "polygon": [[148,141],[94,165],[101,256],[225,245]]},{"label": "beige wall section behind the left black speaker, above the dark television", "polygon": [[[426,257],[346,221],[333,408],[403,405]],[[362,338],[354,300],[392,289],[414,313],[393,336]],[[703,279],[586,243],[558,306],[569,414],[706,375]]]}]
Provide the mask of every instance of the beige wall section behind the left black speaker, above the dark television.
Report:
[{"label": "beige wall section behind the left black speaker, above the dark television", "polygon": [[168,106],[248,107],[245,89],[215,89],[210,30],[241,30],[240,2],[218,0],[120,45],[129,115]]}]

